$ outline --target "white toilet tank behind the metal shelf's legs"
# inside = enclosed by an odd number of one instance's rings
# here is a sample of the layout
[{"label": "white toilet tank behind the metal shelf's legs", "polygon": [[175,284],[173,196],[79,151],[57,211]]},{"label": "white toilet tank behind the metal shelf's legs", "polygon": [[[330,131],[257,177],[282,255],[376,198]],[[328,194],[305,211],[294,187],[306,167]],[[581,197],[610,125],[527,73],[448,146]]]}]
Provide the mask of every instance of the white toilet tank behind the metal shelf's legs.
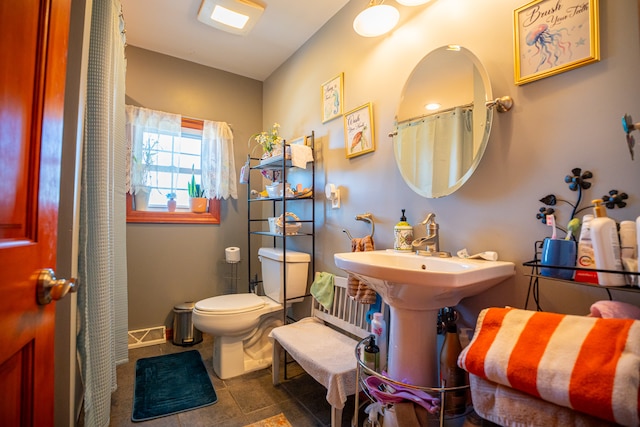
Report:
[{"label": "white toilet tank behind the metal shelf's legs", "polygon": [[[307,277],[311,256],[304,252],[287,250],[287,262],[282,248],[260,248],[258,259],[262,263],[264,293],[272,300],[284,303],[284,275],[287,276],[287,298],[299,298],[307,293]],[[286,272],[285,272],[286,270]],[[298,300],[301,301],[301,300]],[[289,302],[298,302],[289,301]]]}]

